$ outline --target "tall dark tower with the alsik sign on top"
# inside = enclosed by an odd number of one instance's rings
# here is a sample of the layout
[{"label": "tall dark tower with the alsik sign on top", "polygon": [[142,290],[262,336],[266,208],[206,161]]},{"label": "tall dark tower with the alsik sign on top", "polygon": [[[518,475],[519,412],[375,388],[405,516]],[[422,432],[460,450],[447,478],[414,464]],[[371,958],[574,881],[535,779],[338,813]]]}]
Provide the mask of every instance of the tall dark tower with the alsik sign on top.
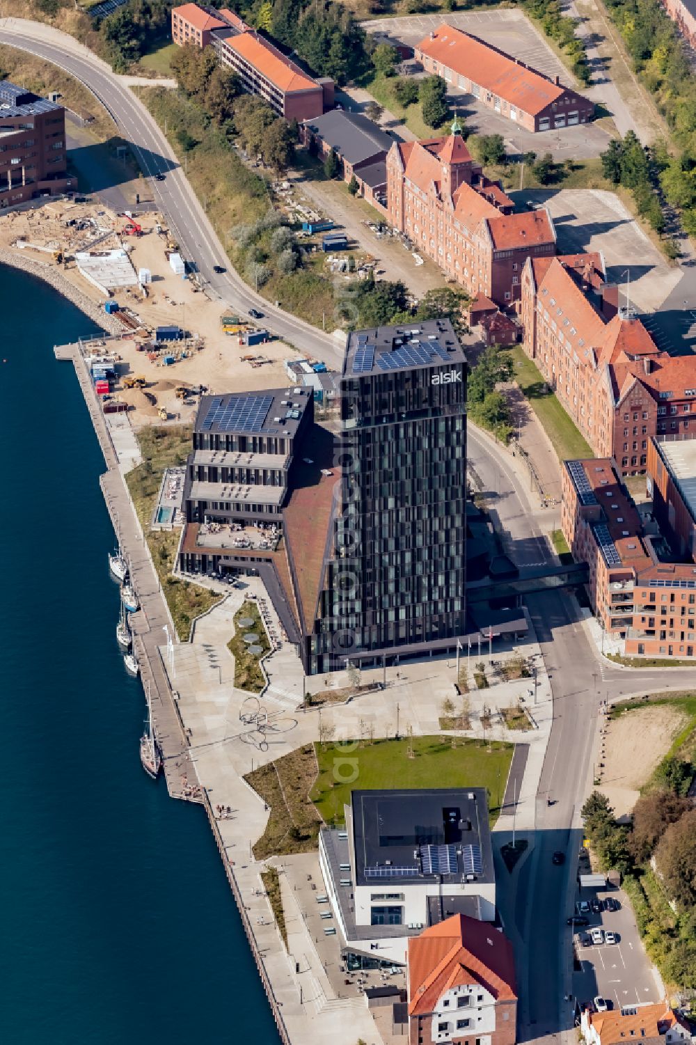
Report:
[{"label": "tall dark tower with the alsik sign on top", "polygon": [[350,335],[310,673],[465,633],[466,375],[448,320]]}]

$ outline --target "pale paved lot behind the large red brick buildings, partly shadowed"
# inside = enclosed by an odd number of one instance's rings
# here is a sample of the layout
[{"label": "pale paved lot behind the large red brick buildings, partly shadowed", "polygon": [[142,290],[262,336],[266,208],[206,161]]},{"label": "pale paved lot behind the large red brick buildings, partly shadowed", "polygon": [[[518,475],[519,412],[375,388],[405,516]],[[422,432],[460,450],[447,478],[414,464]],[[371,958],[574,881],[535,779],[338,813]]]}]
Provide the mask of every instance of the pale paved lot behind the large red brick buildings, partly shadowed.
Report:
[{"label": "pale paved lot behind the large red brick buildings, partly shadowed", "polygon": [[[601,251],[609,283],[622,287],[639,311],[654,311],[660,307],[681,279],[682,271],[667,264],[621,200],[613,192],[600,189],[560,189],[555,192],[531,191],[510,193],[524,205],[533,200],[543,204],[556,228],[558,253],[577,254]],[[630,288],[628,276],[630,275]]]}]

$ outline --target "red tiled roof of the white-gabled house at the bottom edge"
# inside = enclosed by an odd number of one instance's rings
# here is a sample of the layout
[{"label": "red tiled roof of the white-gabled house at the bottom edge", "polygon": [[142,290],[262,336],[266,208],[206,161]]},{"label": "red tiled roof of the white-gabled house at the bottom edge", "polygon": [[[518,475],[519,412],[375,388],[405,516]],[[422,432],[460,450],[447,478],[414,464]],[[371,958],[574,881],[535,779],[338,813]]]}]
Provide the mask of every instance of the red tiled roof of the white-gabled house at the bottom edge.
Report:
[{"label": "red tiled roof of the white-gabled house at the bottom edge", "polygon": [[450,988],[473,980],[516,1000],[512,945],[486,922],[454,914],[409,940],[409,1013],[432,1013]]}]

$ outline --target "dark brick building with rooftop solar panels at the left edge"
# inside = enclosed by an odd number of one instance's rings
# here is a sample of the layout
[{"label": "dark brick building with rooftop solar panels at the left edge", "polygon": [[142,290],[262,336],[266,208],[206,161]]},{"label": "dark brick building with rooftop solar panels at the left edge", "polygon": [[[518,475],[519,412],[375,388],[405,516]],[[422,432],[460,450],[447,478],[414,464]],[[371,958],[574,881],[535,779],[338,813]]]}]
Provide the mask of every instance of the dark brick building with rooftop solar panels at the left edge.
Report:
[{"label": "dark brick building with rooftop solar panels at the left edge", "polygon": [[63,106],[0,80],[0,208],[76,188],[67,171]]}]

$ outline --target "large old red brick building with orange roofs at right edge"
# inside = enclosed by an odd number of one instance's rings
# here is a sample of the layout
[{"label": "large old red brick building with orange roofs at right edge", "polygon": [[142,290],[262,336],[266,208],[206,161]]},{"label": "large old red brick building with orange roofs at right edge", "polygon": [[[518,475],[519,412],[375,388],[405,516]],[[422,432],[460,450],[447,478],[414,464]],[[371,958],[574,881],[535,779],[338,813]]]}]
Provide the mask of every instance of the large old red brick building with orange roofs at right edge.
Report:
[{"label": "large old red brick building with orange roofs at right edge", "polygon": [[593,450],[614,458],[624,474],[639,474],[651,436],[689,432],[696,372],[692,357],[659,351],[617,301],[598,254],[525,265],[525,352]]}]

